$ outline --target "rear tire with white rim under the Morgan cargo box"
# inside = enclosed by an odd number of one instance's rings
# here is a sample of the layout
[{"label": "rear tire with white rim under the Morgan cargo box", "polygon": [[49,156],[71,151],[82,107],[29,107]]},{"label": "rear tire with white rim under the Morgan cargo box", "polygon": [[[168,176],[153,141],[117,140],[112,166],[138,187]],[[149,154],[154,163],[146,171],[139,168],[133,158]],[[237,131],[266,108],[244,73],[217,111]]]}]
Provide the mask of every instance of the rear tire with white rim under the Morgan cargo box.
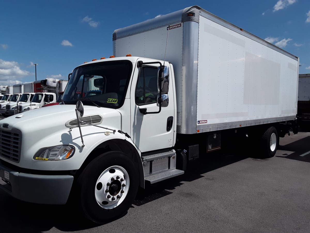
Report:
[{"label": "rear tire with white rim under the Morgan cargo box", "polygon": [[276,154],[278,146],[278,131],[272,126],[268,128],[262,136],[262,149],[264,157],[272,158]]}]

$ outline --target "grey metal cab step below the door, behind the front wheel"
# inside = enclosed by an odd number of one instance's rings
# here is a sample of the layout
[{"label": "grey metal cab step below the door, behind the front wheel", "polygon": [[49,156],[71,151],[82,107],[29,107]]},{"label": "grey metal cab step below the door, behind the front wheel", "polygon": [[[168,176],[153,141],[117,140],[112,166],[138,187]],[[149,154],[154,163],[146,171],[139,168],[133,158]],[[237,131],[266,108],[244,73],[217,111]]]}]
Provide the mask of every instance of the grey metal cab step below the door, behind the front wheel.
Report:
[{"label": "grey metal cab step below the door, behind the front wheel", "polygon": [[174,150],[142,156],[141,159],[144,180],[151,184],[184,174],[184,171],[176,169]]}]

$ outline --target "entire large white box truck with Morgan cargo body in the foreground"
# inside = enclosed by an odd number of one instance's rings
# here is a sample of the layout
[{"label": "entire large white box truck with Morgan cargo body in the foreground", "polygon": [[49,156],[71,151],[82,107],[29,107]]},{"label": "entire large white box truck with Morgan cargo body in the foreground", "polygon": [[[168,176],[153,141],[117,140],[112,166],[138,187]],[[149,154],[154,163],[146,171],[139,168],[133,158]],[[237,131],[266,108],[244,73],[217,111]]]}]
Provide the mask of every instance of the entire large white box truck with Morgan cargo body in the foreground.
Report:
[{"label": "entire large white box truck with Morgan cargo body in the foreground", "polygon": [[1,121],[2,190],[49,204],[71,192],[103,223],[235,134],[272,157],[297,133],[298,57],[200,7],[115,30],[113,49],[73,70],[61,104]]}]

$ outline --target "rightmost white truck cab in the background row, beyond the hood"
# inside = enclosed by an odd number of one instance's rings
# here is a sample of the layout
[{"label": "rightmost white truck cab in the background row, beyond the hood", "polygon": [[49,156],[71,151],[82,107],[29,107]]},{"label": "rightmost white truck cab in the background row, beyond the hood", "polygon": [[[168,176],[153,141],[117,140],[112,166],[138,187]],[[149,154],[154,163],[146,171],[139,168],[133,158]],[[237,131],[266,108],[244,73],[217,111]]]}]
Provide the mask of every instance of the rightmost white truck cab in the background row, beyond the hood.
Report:
[{"label": "rightmost white truck cab in the background row, beyond the hood", "polygon": [[40,108],[49,103],[56,102],[56,95],[55,93],[50,92],[42,92],[42,93],[35,93],[33,98],[28,103],[21,103],[19,106],[20,112],[25,112],[33,109]]}]

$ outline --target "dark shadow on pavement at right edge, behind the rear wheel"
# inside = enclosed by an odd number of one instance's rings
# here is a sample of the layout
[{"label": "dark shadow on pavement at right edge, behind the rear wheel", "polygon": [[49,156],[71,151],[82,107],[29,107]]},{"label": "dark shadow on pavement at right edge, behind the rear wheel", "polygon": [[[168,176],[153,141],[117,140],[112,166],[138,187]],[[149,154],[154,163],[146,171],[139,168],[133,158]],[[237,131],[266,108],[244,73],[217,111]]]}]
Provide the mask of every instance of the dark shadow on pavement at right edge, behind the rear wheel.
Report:
[{"label": "dark shadow on pavement at right edge, behind the rear wheel", "polygon": [[[294,159],[303,162],[310,162],[310,136],[294,141],[290,144],[279,145],[279,150],[291,151],[293,153],[277,155],[276,157]],[[307,154],[309,152],[309,154]],[[303,156],[301,156],[303,155]]]}]

